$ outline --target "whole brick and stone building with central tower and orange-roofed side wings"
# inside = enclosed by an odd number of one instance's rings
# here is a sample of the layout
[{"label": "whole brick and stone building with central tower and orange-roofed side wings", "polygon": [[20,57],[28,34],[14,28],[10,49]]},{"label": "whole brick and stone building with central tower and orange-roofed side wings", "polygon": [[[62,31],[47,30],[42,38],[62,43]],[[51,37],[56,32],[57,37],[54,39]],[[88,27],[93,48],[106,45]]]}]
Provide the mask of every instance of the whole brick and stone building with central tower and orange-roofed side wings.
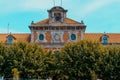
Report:
[{"label": "whole brick and stone building with central tower and orange-roofed side wings", "polygon": [[11,44],[24,40],[55,49],[78,40],[92,40],[106,45],[120,44],[120,33],[85,33],[84,22],[68,18],[67,10],[60,6],[54,6],[47,12],[47,19],[31,22],[30,34],[0,34],[0,42]]}]

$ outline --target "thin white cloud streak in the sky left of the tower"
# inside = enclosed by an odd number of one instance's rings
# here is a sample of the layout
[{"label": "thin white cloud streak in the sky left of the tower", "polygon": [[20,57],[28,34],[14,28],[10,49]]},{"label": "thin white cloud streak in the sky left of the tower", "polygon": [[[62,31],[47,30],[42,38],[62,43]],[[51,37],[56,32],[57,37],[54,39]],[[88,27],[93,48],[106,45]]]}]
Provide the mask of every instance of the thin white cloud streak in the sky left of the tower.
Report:
[{"label": "thin white cloud streak in the sky left of the tower", "polygon": [[35,11],[49,9],[53,6],[51,0],[0,0],[0,14],[15,11]]}]

